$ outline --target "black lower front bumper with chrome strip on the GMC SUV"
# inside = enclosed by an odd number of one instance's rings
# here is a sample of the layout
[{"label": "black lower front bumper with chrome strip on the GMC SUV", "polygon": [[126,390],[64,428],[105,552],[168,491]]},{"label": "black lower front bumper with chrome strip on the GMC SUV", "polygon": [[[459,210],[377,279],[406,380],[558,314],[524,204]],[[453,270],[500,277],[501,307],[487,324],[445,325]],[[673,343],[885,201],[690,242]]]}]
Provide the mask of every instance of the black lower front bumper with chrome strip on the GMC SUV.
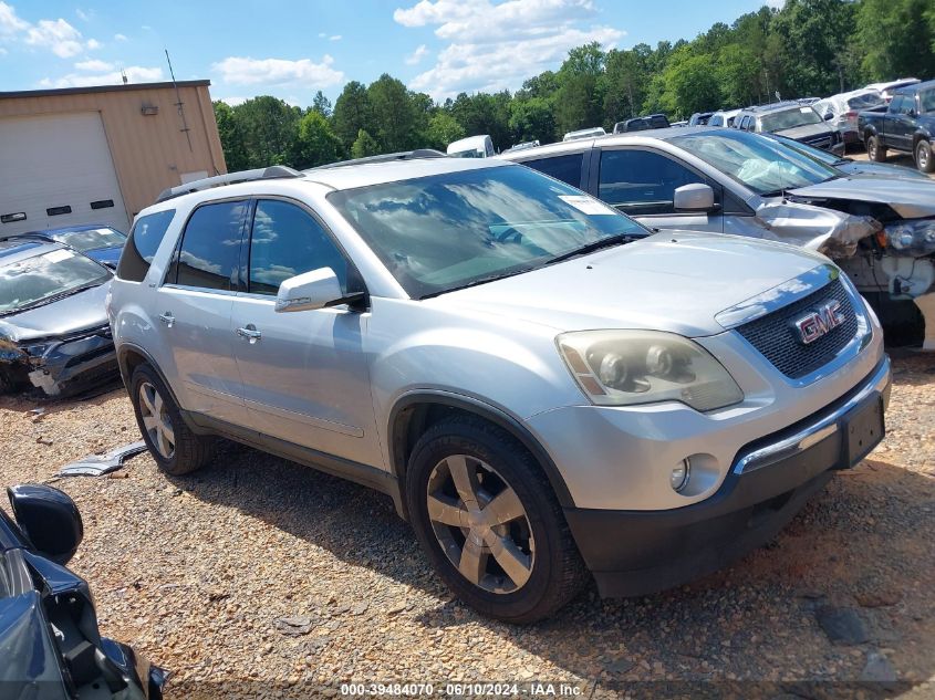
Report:
[{"label": "black lower front bumper with chrome strip on the GMC SUV", "polygon": [[665,511],[565,509],[601,595],[671,588],[771,540],[835,469],[853,467],[865,456],[869,449],[855,451],[845,435],[848,426],[858,410],[874,401],[882,412],[891,382],[890,359],[884,357],[831,406],[741,449],[724,483],[704,501]]}]

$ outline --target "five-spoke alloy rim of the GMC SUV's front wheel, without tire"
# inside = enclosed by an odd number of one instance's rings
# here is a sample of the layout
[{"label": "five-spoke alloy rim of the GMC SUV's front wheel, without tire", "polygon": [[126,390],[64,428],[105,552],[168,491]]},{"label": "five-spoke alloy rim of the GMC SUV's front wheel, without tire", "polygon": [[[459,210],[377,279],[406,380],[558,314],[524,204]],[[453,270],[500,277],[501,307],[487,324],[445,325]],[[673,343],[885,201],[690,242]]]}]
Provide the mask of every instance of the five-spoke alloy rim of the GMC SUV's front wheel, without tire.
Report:
[{"label": "five-spoke alloy rim of the GMC SUV's front wheel, without tire", "polygon": [[490,464],[453,455],[432,470],[428,519],[448,560],[471,584],[497,594],[521,588],[536,563],[529,516]]}]

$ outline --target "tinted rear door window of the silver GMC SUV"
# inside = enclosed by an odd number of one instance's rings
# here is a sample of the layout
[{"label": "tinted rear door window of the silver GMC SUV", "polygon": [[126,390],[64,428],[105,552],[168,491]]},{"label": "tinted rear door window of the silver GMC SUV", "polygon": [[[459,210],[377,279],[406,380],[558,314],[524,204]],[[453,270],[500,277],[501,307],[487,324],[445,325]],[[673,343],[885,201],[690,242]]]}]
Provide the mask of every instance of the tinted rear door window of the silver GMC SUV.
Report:
[{"label": "tinted rear door window of the silver GMC SUV", "polygon": [[243,201],[224,201],[195,210],[181,234],[176,260],[178,284],[209,290],[235,288],[246,212]]}]

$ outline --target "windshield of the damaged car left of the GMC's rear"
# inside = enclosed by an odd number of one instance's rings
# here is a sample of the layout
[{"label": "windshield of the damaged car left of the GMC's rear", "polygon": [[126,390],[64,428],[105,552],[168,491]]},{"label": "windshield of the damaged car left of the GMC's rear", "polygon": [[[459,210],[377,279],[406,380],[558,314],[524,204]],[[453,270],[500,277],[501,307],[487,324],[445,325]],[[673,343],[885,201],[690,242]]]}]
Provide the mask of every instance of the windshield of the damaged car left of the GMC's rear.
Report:
[{"label": "windshield of the damaged car left of the GMC's rear", "polygon": [[0,316],[97,286],[110,278],[106,268],[66,249],[0,262]]}]

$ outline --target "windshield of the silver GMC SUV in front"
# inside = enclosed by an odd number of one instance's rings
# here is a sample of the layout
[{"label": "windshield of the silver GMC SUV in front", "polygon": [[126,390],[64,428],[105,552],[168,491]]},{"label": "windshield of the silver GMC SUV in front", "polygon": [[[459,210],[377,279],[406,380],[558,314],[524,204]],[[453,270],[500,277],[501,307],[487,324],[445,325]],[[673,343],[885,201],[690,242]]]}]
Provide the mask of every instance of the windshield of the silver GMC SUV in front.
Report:
[{"label": "windshield of the silver GMC SUV in front", "polygon": [[540,268],[604,238],[647,233],[580,190],[519,166],[373,185],[328,199],[416,299]]}]

